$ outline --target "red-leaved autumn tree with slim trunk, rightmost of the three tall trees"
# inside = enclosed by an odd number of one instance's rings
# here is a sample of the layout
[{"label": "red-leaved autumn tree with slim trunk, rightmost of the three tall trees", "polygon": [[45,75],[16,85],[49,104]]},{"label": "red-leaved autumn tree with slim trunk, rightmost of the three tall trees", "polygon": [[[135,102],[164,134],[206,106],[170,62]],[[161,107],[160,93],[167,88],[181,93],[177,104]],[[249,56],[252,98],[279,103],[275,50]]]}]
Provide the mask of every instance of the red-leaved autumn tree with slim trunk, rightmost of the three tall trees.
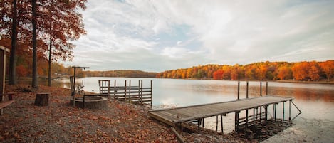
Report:
[{"label": "red-leaved autumn tree with slim trunk, rightmost of the three tall trees", "polygon": [[87,0],[41,1],[41,28],[48,43],[48,85],[51,86],[51,63],[59,58],[71,60],[75,45],[71,41],[85,34],[83,18],[78,9],[85,9]]}]

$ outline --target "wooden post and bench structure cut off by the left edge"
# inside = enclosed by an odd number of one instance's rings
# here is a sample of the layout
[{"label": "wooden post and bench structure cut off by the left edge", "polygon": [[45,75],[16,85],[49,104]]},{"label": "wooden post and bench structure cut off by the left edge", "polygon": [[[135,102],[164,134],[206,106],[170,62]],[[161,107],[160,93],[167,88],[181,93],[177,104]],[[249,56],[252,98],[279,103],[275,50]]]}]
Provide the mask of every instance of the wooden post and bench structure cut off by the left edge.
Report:
[{"label": "wooden post and bench structure cut off by the left edge", "polygon": [[[3,108],[11,105],[14,102],[14,93],[4,93],[5,91],[5,78],[6,78],[6,53],[9,52],[8,48],[0,46],[0,115],[3,113]],[[4,101],[4,96],[8,96],[8,100]]]}]

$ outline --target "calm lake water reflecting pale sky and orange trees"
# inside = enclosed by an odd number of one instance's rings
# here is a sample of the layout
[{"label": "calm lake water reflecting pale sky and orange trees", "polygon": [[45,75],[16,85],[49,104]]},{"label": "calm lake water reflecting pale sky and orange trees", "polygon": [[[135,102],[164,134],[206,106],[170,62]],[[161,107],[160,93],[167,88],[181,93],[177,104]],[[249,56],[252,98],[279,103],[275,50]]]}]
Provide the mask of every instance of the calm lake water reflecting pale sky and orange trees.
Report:
[{"label": "calm lake water reflecting pale sky and orange trees", "polygon": [[[153,81],[153,106],[161,107],[181,107],[187,105],[198,105],[212,102],[224,102],[236,100],[237,82],[221,80],[176,80],[157,78],[80,78],[77,83],[85,86],[88,92],[98,92],[98,80],[110,80],[113,85],[116,80],[117,85],[127,84],[131,80],[131,85],[138,85],[138,80],[143,80],[143,86],[149,87],[150,80]],[[47,81],[40,81],[40,84]],[[69,80],[53,80],[53,85],[69,88]],[[266,94],[266,83],[262,83],[262,93]],[[240,97],[246,97],[246,82],[241,82]],[[294,97],[294,103],[303,112],[298,118],[330,120],[334,121],[334,85],[323,84],[303,84],[303,83],[276,83],[268,82],[268,95],[278,95]],[[260,96],[260,83],[249,82],[249,97]],[[282,118],[283,105],[277,106],[277,116]],[[288,104],[285,104],[288,117]],[[269,116],[272,114],[272,107],[269,107]],[[295,107],[291,108],[291,116],[298,114]],[[241,114],[244,114],[241,112]],[[207,119],[206,119],[207,120]],[[226,131],[234,129],[234,114],[224,117],[224,125],[227,124]],[[216,129],[216,117],[212,117],[205,122],[207,128]]]}]

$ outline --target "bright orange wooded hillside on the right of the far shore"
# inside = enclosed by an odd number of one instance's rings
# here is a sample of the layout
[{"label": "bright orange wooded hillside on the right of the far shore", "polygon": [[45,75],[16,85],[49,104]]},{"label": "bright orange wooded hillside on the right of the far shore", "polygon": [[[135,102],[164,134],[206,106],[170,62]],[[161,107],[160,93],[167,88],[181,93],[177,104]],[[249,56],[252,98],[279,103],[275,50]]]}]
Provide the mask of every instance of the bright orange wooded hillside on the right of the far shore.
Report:
[{"label": "bright orange wooded hillside on the right of the far shore", "polygon": [[261,62],[248,65],[198,65],[192,68],[167,70],[157,78],[196,78],[214,80],[298,80],[319,81],[334,78],[334,60]]}]

